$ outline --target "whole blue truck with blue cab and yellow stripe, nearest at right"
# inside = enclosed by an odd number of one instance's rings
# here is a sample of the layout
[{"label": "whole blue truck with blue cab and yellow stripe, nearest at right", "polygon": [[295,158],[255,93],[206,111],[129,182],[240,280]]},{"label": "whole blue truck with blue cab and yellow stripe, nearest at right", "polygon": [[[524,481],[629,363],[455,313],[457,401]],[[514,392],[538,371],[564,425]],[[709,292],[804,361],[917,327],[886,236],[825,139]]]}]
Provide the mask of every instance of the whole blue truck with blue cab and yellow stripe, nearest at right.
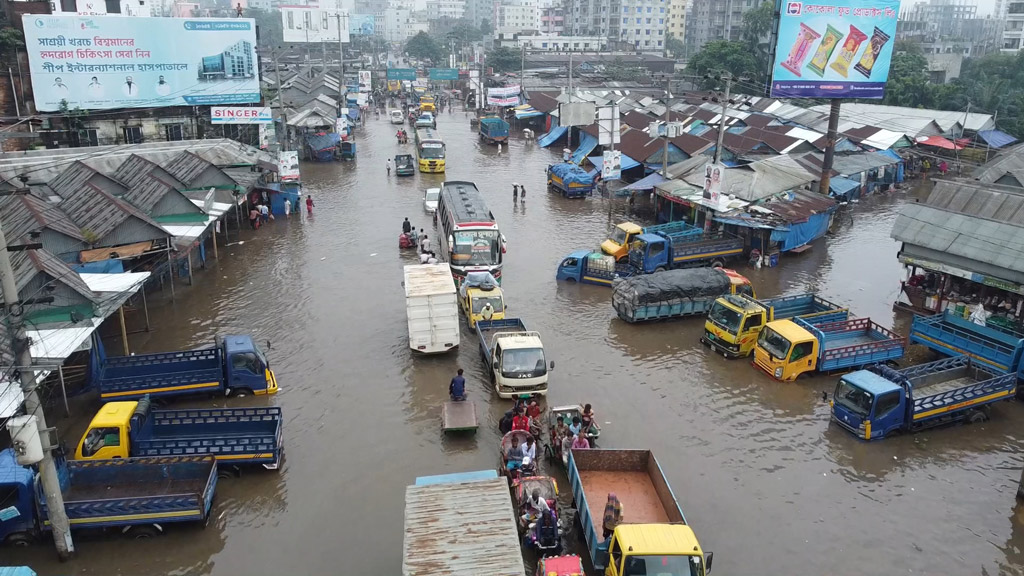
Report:
[{"label": "whole blue truck with blue cab and yellow stripe, nearest at right", "polygon": [[983,422],[992,403],[1011,400],[1017,374],[957,356],[894,370],[872,366],[840,378],[831,419],[863,440],[953,422]]}]

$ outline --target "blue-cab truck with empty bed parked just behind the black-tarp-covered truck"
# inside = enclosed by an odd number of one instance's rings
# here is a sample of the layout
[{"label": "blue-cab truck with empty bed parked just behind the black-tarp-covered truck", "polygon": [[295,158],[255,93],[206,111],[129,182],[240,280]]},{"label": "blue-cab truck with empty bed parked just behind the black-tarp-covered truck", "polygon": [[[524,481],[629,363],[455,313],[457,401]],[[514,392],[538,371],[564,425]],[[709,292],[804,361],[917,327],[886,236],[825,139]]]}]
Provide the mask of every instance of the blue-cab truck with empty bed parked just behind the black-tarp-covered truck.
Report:
[{"label": "blue-cab truck with empty bed parked just behind the black-tarp-covered truck", "polygon": [[742,238],[686,224],[681,230],[654,229],[637,236],[630,245],[629,261],[638,274],[651,274],[680,268],[721,268],[742,255]]}]

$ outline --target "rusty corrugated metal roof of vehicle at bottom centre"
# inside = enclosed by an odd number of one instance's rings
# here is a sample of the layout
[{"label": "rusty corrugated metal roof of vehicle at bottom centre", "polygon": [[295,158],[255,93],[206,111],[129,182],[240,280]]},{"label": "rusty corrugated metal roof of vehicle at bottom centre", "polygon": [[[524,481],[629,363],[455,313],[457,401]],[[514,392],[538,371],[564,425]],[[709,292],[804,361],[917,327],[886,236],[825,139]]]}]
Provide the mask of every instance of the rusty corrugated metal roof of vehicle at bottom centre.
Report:
[{"label": "rusty corrugated metal roof of vehicle at bottom centre", "polygon": [[504,478],[406,489],[404,576],[523,576]]}]

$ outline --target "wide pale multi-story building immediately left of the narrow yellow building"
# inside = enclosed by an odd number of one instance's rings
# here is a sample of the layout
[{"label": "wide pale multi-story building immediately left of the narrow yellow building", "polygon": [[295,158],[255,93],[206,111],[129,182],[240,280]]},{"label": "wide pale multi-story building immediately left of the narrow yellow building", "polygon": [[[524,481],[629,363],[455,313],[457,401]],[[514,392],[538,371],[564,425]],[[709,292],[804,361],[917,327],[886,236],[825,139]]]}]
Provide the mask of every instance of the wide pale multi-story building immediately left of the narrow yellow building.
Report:
[{"label": "wide pale multi-story building immediately left of the narrow yellow building", "polygon": [[565,0],[564,33],[601,36],[612,49],[662,52],[669,0]]}]

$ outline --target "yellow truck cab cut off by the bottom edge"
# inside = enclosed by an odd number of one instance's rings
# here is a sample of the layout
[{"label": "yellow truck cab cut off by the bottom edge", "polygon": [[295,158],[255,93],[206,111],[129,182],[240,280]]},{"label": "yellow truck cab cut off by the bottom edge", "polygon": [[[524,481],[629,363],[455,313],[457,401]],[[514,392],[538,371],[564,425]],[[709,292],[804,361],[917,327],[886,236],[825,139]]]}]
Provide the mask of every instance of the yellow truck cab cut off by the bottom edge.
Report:
[{"label": "yellow truck cab cut off by the bottom edge", "polygon": [[671,574],[705,576],[711,572],[693,530],[680,524],[626,524],[615,527],[608,543],[604,576]]}]

